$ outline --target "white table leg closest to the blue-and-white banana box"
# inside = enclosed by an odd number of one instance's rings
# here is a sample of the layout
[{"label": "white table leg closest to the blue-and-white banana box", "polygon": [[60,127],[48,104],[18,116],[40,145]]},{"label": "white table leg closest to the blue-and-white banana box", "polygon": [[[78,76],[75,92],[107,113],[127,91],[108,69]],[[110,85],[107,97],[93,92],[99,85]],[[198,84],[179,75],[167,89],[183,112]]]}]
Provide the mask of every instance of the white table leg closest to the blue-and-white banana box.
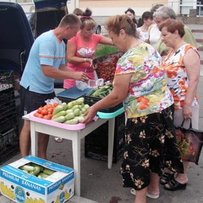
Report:
[{"label": "white table leg closest to the blue-and-white banana box", "polygon": [[75,194],[80,196],[80,159],[81,159],[81,143],[79,135],[74,135],[72,140],[73,150],[73,168],[75,172]]}]

